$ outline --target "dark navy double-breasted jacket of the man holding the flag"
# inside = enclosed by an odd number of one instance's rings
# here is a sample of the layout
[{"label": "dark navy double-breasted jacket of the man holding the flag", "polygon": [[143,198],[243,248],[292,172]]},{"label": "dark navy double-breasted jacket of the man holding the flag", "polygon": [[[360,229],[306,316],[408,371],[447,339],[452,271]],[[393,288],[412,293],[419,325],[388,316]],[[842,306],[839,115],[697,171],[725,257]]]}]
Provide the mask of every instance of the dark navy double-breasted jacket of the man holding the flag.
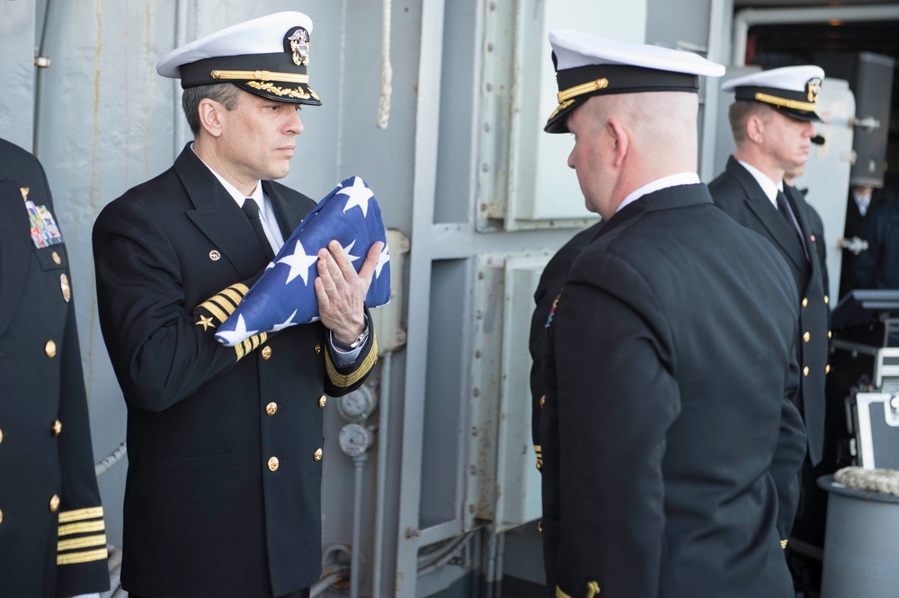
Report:
[{"label": "dark navy double-breasted jacket of the man holding the flag", "polygon": [[[278,183],[263,189],[284,238],[315,207]],[[320,322],[254,339],[246,353],[215,341],[195,307],[219,291],[238,302],[267,259],[190,145],[102,210],[93,252],[128,405],[122,586],[147,598],[245,598],[312,585],[325,393],[360,386],[377,358],[373,332],[346,368],[334,366]]]}]

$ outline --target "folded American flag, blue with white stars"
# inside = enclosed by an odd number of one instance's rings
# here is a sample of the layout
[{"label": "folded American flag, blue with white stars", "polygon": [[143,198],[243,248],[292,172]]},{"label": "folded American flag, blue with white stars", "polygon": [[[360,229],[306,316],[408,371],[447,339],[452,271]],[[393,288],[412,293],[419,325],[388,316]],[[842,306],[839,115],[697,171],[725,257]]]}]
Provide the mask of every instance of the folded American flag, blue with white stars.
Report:
[{"label": "folded American flag, blue with white stars", "polygon": [[259,332],[277,332],[318,320],[315,280],[318,250],[336,239],[359,272],[371,244],[384,242],[365,304],[390,300],[390,255],[378,200],[359,177],[343,180],[322,199],[284,242],[278,255],[216,332],[233,347]]}]

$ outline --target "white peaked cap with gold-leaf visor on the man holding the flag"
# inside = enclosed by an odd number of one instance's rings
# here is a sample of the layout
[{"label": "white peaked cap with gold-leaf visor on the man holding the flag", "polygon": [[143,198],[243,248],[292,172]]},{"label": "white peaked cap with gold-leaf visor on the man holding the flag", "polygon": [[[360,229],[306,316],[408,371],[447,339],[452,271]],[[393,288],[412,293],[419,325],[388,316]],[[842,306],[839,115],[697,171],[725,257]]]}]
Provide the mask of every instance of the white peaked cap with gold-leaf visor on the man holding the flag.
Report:
[{"label": "white peaked cap with gold-leaf visor on the man holding the flag", "polygon": [[274,13],[210,33],[175,48],[156,72],[181,79],[184,89],[236,84],[269,100],[321,106],[309,87],[312,20],[303,13]]}]

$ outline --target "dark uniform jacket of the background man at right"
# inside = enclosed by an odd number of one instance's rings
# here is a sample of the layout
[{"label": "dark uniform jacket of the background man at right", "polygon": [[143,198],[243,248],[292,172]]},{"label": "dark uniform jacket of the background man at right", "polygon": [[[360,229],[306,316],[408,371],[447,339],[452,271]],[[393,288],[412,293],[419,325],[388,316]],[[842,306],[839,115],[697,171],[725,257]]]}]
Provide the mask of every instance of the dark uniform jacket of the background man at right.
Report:
[{"label": "dark uniform jacket of the background man at right", "polygon": [[816,258],[818,241],[812,241],[808,205],[801,193],[786,194],[802,231],[802,242],[806,243],[803,249],[796,228],[779,214],[752,174],[733,156],[727,161],[726,170],[709,183],[708,190],[717,207],[768,239],[787,261],[793,275],[799,307],[797,359],[802,373],[797,407],[806,422],[809,460],[817,465],[824,445],[824,377],[830,371],[827,363],[830,298],[823,288],[821,263]]}]

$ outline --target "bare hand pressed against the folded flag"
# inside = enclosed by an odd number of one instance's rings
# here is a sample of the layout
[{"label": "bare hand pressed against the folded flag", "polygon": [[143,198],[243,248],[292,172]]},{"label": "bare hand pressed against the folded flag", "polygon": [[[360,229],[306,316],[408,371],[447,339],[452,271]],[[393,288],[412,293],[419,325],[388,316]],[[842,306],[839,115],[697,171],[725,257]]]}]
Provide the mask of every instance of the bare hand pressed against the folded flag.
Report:
[{"label": "bare hand pressed against the folded flag", "polygon": [[382,242],[372,243],[359,274],[339,242],[332,241],[327,249],[318,251],[318,316],[334,332],[334,339],[349,345],[365,329],[365,295],[383,248]]}]

